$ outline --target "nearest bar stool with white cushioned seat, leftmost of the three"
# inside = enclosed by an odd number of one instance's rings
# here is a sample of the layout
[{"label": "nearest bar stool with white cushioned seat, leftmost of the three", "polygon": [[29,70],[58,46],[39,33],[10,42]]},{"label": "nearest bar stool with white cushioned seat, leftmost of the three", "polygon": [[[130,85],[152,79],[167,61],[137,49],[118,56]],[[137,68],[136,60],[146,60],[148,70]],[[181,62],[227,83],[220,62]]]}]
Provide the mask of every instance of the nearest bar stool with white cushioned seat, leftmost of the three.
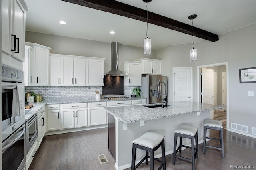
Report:
[{"label": "nearest bar stool with white cushioned seat, leftmost of the three", "polygon": [[[162,148],[162,160],[154,158],[154,151],[161,146]],[[135,166],[136,159],[136,149],[141,149],[146,151],[146,156]],[[148,152],[150,156],[148,155]],[[146,132],[139,138],[132,141],[132,170],[135,170],[146,160],[146,165],[148,164],[148,158],[150,158],[150,170],[154,170],[154,160],[162,162],[158,170],[162,167],[166,170],[165,165],[165,149],[164,149],[164,136],[155,132]]]}]

